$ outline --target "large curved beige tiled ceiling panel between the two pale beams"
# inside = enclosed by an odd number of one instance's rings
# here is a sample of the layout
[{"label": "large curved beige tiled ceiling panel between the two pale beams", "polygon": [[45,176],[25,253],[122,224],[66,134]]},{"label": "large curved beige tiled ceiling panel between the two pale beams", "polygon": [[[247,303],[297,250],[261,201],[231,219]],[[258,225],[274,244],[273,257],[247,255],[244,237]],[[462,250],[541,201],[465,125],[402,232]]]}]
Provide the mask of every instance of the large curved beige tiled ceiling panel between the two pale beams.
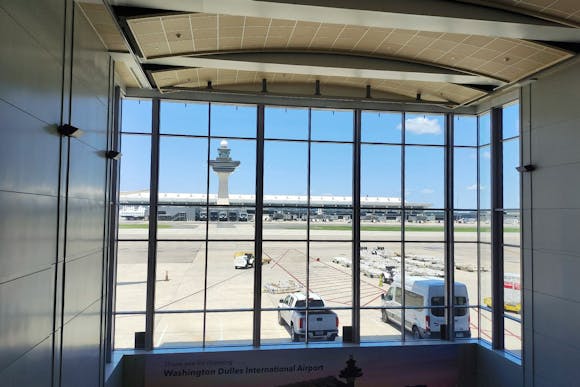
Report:
[{"label": "large curved beige tiled ceiling panel between the two pale beams", "polygon": [[128,21],[143,55],[329,50],[401,58],[512,82],[572,55],[518,39],[270,18],[185,14]]}]

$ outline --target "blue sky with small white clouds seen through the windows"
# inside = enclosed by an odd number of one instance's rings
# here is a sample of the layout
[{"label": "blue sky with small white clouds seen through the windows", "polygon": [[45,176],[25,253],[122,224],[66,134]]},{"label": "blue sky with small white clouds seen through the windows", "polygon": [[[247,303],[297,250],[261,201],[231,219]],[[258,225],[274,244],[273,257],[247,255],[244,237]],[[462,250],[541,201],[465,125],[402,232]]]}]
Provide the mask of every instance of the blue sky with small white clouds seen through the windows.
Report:
[{"label": "blue sky with small white clouds seen through the windows", "polygon": [[[256,126],[254,106],[162,101],[160,116],[159,190],[205,193],[207,155],[217,157],[226,139],[240,166],[230,176],[230,193],[255,194]],[[504,109],[504,138],[517,136],[519,106]],[[308,192],[308,109],[267,107],[265,112],[264,194]],[[310,190],[312,195],[352,196],[353,112],[312,109]],[[361,195],[401,197],[404,152],[407,202],[444,206],[444,116],[363,112],[361,128]],[[211,122],[211,125],[209,123]],[[211,127],[211,139],[207,137]],[[489,208],[489,115],[456,116],[454,133],[454,207],[477,207],[477,158],[480,157],[481,208]],[[148,190],[151,102],[123,100],[121,191]],[[130,134],[129,134],[130,133]],[[137,133],[142,133],[138,135]],[[406,146],[402,146],[404,142]],[[425,146],[427,145],[427,146]],[[468,148],[473,147],[473,148]],[[519,207],[518,139],[504,143],[504,207]],[[217,192],[210,171],[210,193]]]}]

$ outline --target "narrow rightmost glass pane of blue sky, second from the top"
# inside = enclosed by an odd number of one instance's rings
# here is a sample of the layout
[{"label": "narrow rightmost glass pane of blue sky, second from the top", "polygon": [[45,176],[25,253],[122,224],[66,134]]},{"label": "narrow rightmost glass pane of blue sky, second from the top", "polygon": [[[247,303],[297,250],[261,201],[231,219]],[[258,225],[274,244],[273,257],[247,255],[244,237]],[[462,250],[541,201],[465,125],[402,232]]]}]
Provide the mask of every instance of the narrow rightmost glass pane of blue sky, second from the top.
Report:
[{"label": "narrow rightmost glass pane of blue sky, second from the top", "polygon": [[520,141],[503,143],[503,208],[520,208]]}]

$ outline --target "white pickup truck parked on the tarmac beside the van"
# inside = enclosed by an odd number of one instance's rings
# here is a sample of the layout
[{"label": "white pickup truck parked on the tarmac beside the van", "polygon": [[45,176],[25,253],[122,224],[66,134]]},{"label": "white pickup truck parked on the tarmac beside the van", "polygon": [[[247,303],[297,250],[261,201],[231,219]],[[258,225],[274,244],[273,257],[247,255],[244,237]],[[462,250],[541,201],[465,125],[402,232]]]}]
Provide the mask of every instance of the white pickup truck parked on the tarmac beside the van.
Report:
[{"label": "white pickup truck parked on the tarmac beside the van", "polygon": [[[310,293],[308,307],[324,308],[324,301],[317,294]],[[278,308],[280,309],[278,323],[288,325],[292,341],[299,341],[306,336],[306,325],[308,325],[308,340],[334,341],[338,336],[338,316],[333,311],[311,309],[308,311],[308,324],[306,324],[306,310],[287,310],[289,308],[306,309],[306,296],[301,292],[281,298]]]}]

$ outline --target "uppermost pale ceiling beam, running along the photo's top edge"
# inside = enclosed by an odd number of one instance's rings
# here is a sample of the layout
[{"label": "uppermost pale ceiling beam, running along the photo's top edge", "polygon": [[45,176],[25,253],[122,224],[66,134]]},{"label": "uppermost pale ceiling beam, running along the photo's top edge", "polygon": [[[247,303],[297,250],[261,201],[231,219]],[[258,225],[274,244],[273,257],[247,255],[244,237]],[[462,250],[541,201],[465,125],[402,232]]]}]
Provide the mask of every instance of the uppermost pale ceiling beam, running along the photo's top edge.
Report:
[{"label": "uppermost pale ceiling beam, running along the photo's top edge", "polygon": [[111,4],[366,27],[554,42],[580,42],[580,29],[480,5],[441,0],[109,0]]}]

